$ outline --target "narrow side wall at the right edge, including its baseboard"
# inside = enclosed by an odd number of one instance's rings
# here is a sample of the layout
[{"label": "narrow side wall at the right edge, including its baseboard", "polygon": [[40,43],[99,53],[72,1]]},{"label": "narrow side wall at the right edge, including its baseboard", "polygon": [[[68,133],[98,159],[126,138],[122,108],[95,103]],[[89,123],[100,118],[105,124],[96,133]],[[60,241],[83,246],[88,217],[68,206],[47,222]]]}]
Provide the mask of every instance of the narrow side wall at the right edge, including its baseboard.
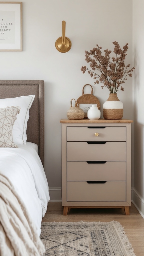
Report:
[{"label": "narrow side wall at the right edge, including its baseboard", "polygon": [[134,109],[134,189],[133,203],[144,218],[144,2],[133,0],[133,109]]}]

